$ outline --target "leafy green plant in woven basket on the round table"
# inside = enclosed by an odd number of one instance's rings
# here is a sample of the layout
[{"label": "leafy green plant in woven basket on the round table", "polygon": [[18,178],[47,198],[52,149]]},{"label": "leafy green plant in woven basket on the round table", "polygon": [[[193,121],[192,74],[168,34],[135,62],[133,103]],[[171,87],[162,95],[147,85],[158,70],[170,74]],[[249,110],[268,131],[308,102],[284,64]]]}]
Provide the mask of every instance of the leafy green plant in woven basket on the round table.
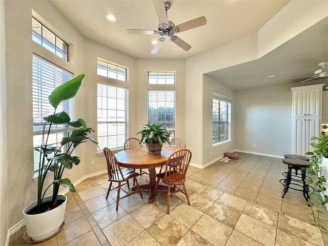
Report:
[{"label": "leafy green plant in woven basket on the round table", "polygon": [[157,155],[162,149],[162,145],[166,142],[170,144],[170,133],[162,125],[144,125],[136,135],[141,134],[140,145],[146,144],[147,153],[150,155]]}]

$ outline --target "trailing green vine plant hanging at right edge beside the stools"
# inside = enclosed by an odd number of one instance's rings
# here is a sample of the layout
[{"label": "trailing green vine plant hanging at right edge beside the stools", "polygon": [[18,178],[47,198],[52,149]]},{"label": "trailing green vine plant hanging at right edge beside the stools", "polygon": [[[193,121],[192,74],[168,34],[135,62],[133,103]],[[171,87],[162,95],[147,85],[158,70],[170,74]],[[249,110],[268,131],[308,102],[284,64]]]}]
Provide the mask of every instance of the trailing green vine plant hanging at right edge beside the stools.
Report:
[{"label": "trailing green vine plant hanging at right edge beside the stools", "polygon": [[322,175],[322,160],[323,158],[328,158],[328,135],[321,133],[318,137],[312,137],[311,140],[314,140],[310,144],[314,150],[305,153],[310,156],[310,168],[307,172],[309,178],[305,179],[305,181],[313,186],[314,191],[310,191],[309,194],[314,195],[315,199],[312,201],[310,196],[308,204],[311,206],[314,224],[322,231],[328,233],[328,230],[320,220],[320,214],[323,214],[323,212],[319,208],[319,206],[324,206],[328,203],[328,196],[324,194],[326,190],[326,179]]}]

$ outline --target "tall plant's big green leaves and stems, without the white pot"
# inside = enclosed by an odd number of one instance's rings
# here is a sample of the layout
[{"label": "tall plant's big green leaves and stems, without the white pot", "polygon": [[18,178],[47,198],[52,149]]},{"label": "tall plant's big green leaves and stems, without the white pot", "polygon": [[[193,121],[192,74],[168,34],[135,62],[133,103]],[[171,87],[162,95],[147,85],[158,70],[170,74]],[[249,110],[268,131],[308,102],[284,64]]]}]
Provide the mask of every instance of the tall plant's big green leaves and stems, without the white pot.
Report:
[{"label": "tall plant's big green leaves and stems, without the white pot", "polygon": [[[58,105],[68,99],[73,98],[83,84],[85,75],[81,74],[71,80],[66,81],[56,87],[49,95],[49,103],[54,108],[54,113],[43,117],[45,124],[43,126],[41,146],[34,149],[39,152],[38,182],[37,182],[37,206],[36,211],[43,212],[43,198],[46,191],[52,186],[52,207],[56,207],[59,186],[64,186],[72,192],[75,192],[72,182],[68,178],[61,178],[64,169],[72,169],[73,164],[78,165],[79,157],[72,156],[75,148],[83,142],[91,141],[98,145],[98,142],[87,135],[94,132],[88,128],[86,122],[79,118],[71,121],[70,116],[65,112],[56,112]],[[65,133],[69,128],[75,128],[69,137],[63,137],[60,143],[54,145],[48,144],[51,128],[55,125],[66,125]],[[64,135],[65,135],[64,133]],[[57,144],[60,147],[56,147]],[[67,146],[64,152],[64,146]],[[49,155],[53,154],[53,157]],[[53,182],[44,190],[45,179],[49,171],[53,172]]]}]

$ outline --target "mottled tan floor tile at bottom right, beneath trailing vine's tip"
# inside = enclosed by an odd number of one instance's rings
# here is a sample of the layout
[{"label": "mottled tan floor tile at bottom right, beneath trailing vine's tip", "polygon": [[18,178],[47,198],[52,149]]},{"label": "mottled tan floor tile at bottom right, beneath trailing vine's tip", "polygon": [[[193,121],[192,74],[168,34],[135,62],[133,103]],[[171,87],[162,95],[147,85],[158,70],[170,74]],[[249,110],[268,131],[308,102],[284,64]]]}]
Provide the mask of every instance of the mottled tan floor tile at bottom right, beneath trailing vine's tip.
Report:
[{"label": "mottled tan floor tile at bottom right, beneath trailing vine's tip", "polygon": [[278,229],[318,246],[324,245],[321,232],[318,227],[290,216],[279,214]]}]

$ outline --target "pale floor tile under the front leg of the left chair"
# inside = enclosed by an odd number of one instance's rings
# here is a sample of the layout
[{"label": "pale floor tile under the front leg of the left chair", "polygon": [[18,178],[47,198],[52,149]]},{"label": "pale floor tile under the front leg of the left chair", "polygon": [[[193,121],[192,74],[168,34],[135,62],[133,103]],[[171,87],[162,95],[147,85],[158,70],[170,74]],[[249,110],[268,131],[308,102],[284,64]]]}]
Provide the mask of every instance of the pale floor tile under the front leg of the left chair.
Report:
[{"label": "pale floor tile under the front leg of the left chair", "polygon": [[116,220],[126,216],[127,214],[128,213],[119,206],[118,211],[116,211],[116,203],[113,203],[103,209],[93,212],[91,215],[97,222],[100,229],[103,229]]}]

